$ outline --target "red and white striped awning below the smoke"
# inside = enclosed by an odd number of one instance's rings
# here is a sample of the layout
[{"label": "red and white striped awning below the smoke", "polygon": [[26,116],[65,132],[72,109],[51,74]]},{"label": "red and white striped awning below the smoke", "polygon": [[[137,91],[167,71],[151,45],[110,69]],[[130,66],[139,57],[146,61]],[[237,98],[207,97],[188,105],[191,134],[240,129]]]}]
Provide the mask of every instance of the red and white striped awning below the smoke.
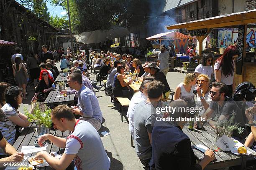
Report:
[{"label": "red and white striped awning below the smoke", "polygon": [[172,32],[164,32],[160,34],[153,35],[151,37],[146,38],[146,40],[169,40],[169,39],[187,39],[189,36],[184,35],[180,32],[177,31],[172,31]]}]

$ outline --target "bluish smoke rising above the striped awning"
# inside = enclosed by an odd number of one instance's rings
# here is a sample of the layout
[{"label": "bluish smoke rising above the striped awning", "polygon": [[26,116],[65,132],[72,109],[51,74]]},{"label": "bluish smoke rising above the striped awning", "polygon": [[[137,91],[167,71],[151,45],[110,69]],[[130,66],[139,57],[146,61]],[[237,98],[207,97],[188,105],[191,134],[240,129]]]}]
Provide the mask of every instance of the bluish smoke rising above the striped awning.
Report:
[{"label": "bluish smoke rising above the striped awning", "polygon": [[173,30],[167,30],[165,28],[166,25],[172,25],[176,24],[177,22],[175,21],[175,13],[171,11],[166,11],[163,13],[163,10],[166,6],[166,1],[168,0],[150,0],[149,7],[150,7],[150,16],[151,18],[148,19],[148,36],[156,35],[159,33],[163,32],[170,32]]}]

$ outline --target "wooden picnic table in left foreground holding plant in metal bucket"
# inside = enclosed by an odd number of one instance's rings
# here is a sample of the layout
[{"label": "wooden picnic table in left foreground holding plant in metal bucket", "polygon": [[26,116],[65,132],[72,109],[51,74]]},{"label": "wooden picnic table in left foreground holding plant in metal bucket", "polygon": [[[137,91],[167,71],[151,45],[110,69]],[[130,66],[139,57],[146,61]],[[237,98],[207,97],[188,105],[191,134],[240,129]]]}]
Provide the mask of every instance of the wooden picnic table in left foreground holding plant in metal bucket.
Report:
[{"label": "wooden picnic table in left foreground holding plant in metal bucket", "polygon": [[[41,110],[43,110],[45,107],[44,103],[41,102],[39,107],[41,108]],[[50,133],[54,136],[59,136],[61,138],[67,138],[67,136],[69,135],[69,131],[65,131],[64,133],[62,133],[59,130],[50,130]],[[38,134],[36,132],[36,124],[34,122],[31,122],[29,127],[25,128],[22,131],[22,133],[20,134],[18,139],[13,144],[13,147],[18,152],[20,152],[22,146],[34,146],[34,141],[37,139],[37,136],[38,136]],[[59,148],[52,143],[47,143],[47,145],[48,145],[48,147],[47,147],[46,152],[48,152],[48,153],[58,152],[58,154],[61,154],[64,151],[63,148]],[[34,155],[36,155],[36,153],[28,153],[28,154],[25,154],[24,156],[34,156]],[[27,160],[27,163],[28,163],[28,160]],[[46,167],[36,168],[36,170],[52,170],[52,168],[50,166],[46,166]]]}]

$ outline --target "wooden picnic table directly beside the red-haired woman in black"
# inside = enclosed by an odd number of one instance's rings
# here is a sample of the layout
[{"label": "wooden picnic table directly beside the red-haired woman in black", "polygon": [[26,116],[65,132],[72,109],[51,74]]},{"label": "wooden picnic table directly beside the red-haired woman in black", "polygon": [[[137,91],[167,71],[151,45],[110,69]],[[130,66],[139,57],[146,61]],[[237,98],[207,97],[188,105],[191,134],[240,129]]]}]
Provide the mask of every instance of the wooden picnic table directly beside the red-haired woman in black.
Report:
[{"label": "wooden picnic table directly beside the red-haired woman in black", "polygon": [[[70,90],[70,87],[67,88]],[[65,104],[65,105],[74,105],[74,94],[67,95],[66,97],[57,97],[60,95],[59,86],[56,86],[55,90],[52,90],[49,95],[46,97],[44,103],[49,105],[51,108],[54,107],[54,104]]]}]

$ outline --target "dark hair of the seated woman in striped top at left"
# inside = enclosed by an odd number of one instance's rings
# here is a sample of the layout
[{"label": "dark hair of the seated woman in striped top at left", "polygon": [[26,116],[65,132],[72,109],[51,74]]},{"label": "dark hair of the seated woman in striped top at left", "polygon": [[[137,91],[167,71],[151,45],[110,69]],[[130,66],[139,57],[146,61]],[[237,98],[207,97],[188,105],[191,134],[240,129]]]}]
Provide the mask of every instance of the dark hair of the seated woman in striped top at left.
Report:
[{"label": "dark hair of the seated woman in striped top at left", "polygon": [[23,90],[18,86],[12,86],[5,92],[6,103],[9,103],[16,110],[18,109],[19,105],[17,100],[15,100],[15,97],[17,98],[20,92],[23,92]]}]

